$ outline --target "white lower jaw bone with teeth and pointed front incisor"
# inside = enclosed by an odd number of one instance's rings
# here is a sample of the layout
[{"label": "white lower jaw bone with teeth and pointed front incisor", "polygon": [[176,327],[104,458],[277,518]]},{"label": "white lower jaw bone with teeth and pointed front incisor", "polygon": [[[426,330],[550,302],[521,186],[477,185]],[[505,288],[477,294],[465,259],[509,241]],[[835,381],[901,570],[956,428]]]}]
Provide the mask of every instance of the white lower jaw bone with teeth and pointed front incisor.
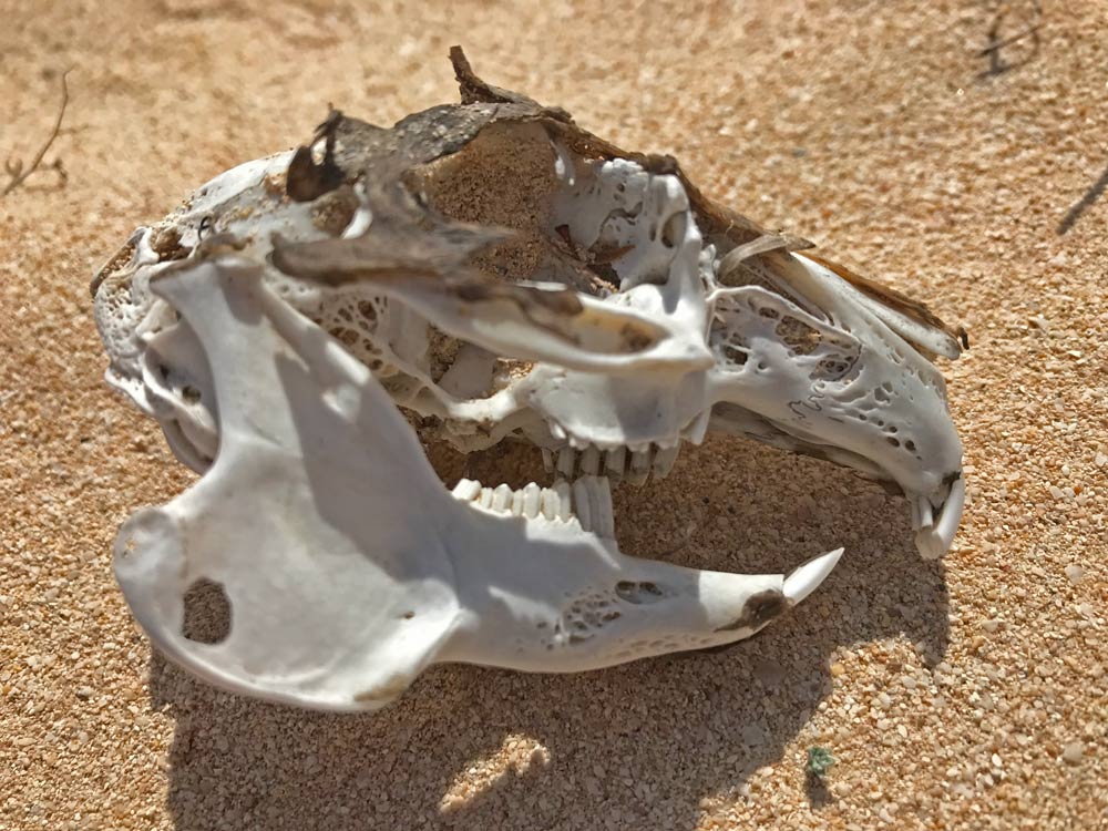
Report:
[{"label": "white lower jaw bone with teeth and pointed front incisor", "polygon": [[[789,576],[739,575],[626,556],[598,478],[451,494],[369,370],[259,278],[223,256],[152,284],[212,368],[220,442],[196,485],[135,513],[115,546],[143,628],[214,684],[375,709],[439,661],[575,671],[718,646],[801,602],[838,562],[841,550]],[[633,475],[649,470],[638,455]],[[230,605],[214,644],[183,632],[203,581]]]}]

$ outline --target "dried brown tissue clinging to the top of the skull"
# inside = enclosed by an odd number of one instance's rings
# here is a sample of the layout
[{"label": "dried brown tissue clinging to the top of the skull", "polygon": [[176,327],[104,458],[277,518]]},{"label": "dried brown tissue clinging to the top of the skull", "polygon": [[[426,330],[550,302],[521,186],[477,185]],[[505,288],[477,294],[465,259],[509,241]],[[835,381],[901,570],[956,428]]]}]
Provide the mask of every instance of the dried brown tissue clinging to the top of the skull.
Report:
[{"label": "dried brown tissue clinging to the top of the skull", "polygon": [[[493,124],[538,124],[553,140],[585,160],[625,158],[636,162],[656,174],[671,174],[685,187],[694,214],[706,237],[722,236],[736,246],[745,247],[743,257],[758,258],[766,267],[776,267],[782,250],[809,247],[804,240],[774,235],[757,223],[708,199],[685,175],[671,156],[636,153],[623,150],[577,126],[570,114],[560,107],[547,107],[526,95],[493,86],[480,79],[470,66],[461,48],[450,51],[461,94],[461,104],[447,104],[399,121],[391,129],[368,124],[332,111],[317,130],[312,144],[325,141],[324,160],[316,164],[310,146],[300,147],[288,176],[288,195],[291,198],[315,198],[340,184],[362,182],[371,184],[375,199],[386,212],[375,209],[370,230],[356,239],[326,239],[311,243],[275,240],[274,264],[293,276],[315,280],[342,283],[373,276],[386,278],[384,271],[397,276],[444,277],[448,271],[455,277],[453,288],[469,286],[468,291],[501,293],[520,302],[530,302],[531,295],[541,295],[543,305],[551,302],[570,308],[565,293],[536,293],[521,287],[481,279],[475,269],[454,270],[472,266],[469,257],[474,252],[502,242],[502,232],[448,220],[427,206],[427,195],[421,193],[421,171],[438,160],[450,156]],[[388,212],[400,208],[393,219]],[[402,220],[402,222],[401,222]],[[407,227],[401,227],[407,224]],[[383,226],[383,227],[382,227]],[[497,234],[500,234],[497,236]],[[552,246],[557,248],[558,246]],[[938,328],[965,346],[964,330],[950,327],[940,320],[924,304],[874,280],[806,252],[807,257],[827,266],[856,288],[865,291],[891,308]],[[603,271],[604,257],[584,260],[586,268]],[[601,274],[601,277],[604,275]],[[460,280],[460,283],[459,283]],[[499,286],[499,288],[496,288]],[[579,308],[579,306],[578,306]]]}]

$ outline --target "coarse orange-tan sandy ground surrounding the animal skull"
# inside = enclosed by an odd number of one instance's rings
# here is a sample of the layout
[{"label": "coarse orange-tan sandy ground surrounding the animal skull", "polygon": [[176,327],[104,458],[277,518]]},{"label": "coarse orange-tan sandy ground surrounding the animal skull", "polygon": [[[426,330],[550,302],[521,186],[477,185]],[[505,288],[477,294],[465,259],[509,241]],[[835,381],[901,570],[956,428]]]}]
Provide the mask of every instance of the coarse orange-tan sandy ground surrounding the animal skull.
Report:
[{"label": "coarse orange-tan sandy ground surrounding the animal skull", "polygon": [[[1009,6],[1001,37],[1028,18]],[[989,73],[991,2],[0,2],[0,153],[32,155],[73,68],[47,160],[69,182],[0,201],[0,829],[1104,828],[1108,4],[1046,7],[1039,50]],[[89,276],[328,102],[391,123],[453,101],[454,42],[968,328],[943,370],[972,503],[942,565],[902,499],[714,440],[619,492],[624,551],[755,571],[848,548],[730,652],[438,668],[362,717],[151,655],[111,541],[189,476],[101,383]]]}]

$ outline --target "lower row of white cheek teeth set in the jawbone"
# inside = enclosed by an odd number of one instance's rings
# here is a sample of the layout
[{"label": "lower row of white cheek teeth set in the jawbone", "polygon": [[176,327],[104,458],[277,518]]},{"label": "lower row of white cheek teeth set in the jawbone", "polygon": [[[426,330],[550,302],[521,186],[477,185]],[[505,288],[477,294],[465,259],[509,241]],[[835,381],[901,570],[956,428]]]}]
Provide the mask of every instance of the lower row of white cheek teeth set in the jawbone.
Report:
[{"label": "lower row of white cheek teeth set in the jawbone", "polygon": [[532,482],[519,491],[506,484],[485,488],[472,479],[463,479],[454,485],[453,494],[462,502],[473,502],[489,511],[547,522],[576,521],[583,531],[615,536],[612,489],[603,476],[582,476],[572,485],[558,480],[551,488]]}]

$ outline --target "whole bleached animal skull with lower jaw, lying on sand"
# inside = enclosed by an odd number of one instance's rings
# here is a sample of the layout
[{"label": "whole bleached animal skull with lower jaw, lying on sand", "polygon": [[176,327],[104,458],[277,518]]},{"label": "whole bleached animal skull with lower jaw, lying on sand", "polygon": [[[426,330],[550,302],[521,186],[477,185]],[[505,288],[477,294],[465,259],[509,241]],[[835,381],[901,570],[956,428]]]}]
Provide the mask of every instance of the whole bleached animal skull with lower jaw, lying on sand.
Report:
[{"label": "whole bleached animal skull with lower jaw, lying on sand", "polygon": [[[155,644],[230,689],[372,709],[435,661],[570,671],[747,637],[841,550],[735,575],[614,540],[609,483],[708,430],[897,484],[942,555],[964,486],[931,358],[955,334],[452,58],[461,105],[332,113],[94,279],[107,380],[203,473],[116,543]],[[450,493],[398,406],[462,451],[533,442],[556,481]],[[183,632],[202,581],[230,605],[214,644]]]}]

